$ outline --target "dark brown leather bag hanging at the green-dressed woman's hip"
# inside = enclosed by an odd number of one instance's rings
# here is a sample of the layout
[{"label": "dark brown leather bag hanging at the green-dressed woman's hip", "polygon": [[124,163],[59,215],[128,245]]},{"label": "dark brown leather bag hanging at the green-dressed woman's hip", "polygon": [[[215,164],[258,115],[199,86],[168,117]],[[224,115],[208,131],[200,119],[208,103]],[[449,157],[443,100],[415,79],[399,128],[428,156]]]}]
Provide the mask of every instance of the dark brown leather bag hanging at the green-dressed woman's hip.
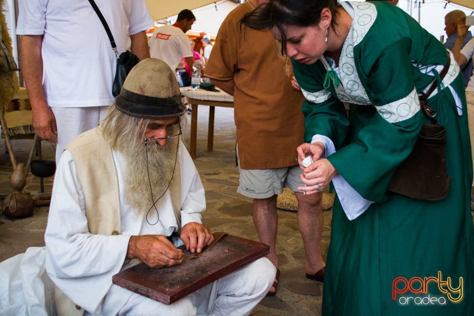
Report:
[{"label": "dark brown leather bag hanging at the green-dressed woman's hip", "polygon": [[[448,54],[448,61],[439,73],[441,80],[446,75],[449,64]],[[421,109],[432,123],[423,123],[413,151],[397,167],[388,188],[389,191],[406,197],[428,201],[446,197],[451,179],[446,168],[446,130],[444,126],[436,124],[436,113],[426,104],[435,87],[436,81],[426,94],[420,96]]]}]

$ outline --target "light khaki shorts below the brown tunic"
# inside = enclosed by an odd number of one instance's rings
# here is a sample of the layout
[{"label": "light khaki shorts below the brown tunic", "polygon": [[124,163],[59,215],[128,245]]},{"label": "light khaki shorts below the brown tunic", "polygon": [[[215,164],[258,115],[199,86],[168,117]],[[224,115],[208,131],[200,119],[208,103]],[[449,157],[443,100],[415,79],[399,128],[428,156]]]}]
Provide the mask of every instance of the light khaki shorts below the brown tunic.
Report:
[{"label": "light khaki shorts below the brown tunic", "polygon": [[238,161],[238,150],[237,163],[240,173],[237,192],[245,197],[273,197],[282,194],[283,188],[290,188],[293,192],[302,193],[302,191],[298,191],[298,187],[304,186],[300,178],[303,170],[298,164],[275,169],[241,169]]}]

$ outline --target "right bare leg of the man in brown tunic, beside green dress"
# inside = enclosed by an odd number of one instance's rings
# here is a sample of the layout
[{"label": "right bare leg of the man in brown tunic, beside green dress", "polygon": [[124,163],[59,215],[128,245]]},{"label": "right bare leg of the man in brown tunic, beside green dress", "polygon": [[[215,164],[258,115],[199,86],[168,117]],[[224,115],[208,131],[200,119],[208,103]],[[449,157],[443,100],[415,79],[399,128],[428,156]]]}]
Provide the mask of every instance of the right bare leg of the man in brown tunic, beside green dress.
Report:
[{"label": "right bare leg of the man in brown tunic, beside green dress", "polygon": [[298,227],[305,246],[305,272],[315,274],[326,264],[321,256],[322,236],[322,193],[303,195],[295,192],[298,199]]}]

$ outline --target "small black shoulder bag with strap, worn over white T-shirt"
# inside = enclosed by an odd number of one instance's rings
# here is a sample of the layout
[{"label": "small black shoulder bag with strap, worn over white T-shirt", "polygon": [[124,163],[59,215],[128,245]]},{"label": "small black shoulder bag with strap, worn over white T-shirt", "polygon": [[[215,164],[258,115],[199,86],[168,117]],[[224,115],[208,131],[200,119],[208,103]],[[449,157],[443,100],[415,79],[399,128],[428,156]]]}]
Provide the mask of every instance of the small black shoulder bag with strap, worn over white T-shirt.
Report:
[{"label": "small black shoulder bag with strap, worn over white T-shirt", "polygon": [[104,16],[100,12],[97,4],[95,4],[94,0],[89,0],[90,5],[94,8],[95,13],[99,17],[102,25],[104,26],[105,31],[107,32],[107,36],[109,37],[110,44],[112,45],[112,49],[115,51],[115,56],[117,57],[117,67],[115,72],[114,82],[112,83],[112,95],[114,97],[120,94],[120,90],[122,89],[123,82],[125,78],[127,78],[128,73],[130,70],[138,64],[140,59],[132,54],[129,50],[121,53],[118,55],[117,45],[115,44],[114,37],[112,36],[112,32],[110,31],[109,25],[105,20]]}]

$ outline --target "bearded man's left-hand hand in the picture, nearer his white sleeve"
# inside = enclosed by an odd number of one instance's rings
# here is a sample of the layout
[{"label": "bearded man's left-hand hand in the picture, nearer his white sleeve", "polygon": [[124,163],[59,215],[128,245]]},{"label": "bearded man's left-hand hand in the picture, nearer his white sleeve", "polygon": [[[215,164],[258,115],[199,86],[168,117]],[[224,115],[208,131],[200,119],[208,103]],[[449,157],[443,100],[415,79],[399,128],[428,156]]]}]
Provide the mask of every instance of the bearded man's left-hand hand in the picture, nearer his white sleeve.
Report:
[{"label": "bearded man's left-hand hand in the picture, nearer his white sleeve", "polygon": [[140,259],[150,268],[179,265],[183,252],[163,235],[132,236],[128,242],[128,259]]}]

